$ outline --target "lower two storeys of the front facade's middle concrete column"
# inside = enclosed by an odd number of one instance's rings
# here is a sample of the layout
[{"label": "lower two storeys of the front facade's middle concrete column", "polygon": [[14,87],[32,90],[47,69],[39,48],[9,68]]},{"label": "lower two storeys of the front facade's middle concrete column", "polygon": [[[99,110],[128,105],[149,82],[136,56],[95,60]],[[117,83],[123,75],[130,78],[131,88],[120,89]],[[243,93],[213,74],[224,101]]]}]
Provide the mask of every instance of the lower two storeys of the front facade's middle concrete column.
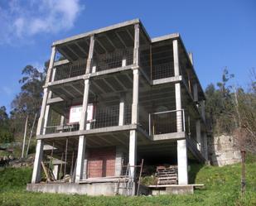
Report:
[{"label": "lower two storeys of the front facade's middle concrete column", "polygon": [[[80,131],[86,129],[86,120],[87,120],[87,107],[88,107],[88,98],[89,98],[89,79],[85,79],[85,90],[84,90],[84,98],[83,98],[83,108],[80,120]],[[84,165],[85,165],[85,145],[86,145],[86,137],[85,135],[81,135],[79,137],[78,143],[78,151],[77,151],[77,161],[76,161],[76,170],[75,170],[75,182],[79,183],[83,178],[84,173]]]}]

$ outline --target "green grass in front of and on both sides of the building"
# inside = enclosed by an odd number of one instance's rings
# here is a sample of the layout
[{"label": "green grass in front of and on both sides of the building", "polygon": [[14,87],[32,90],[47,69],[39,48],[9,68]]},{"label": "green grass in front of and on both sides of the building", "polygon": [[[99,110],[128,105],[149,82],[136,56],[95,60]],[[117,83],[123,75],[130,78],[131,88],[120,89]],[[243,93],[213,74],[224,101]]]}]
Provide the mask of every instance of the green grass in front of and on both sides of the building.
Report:
[{"label": "green grass in front of and on both sides of the building", "polygon": [[[246,193],[240,195],[239,164],[224,167],[193,165],[191,174],[205,189],[195,194],[142,197],[89,197],[86,195],[41,194],[26,191],[31,169],[7,168],[0,172],[0,205],[256,205],[256,163],[246,164]],[[197,174],[195,171],[198,171]]]}]

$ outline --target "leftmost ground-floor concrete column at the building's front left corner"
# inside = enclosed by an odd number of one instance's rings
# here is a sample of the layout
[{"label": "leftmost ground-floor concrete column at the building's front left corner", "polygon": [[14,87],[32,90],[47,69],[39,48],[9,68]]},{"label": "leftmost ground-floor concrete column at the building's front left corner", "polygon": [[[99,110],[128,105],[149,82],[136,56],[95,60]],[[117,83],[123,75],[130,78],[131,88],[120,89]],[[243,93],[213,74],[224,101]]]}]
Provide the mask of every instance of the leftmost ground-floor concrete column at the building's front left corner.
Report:
[{"label": "leftmost ground-floor concrete column at the building's front left corner", "polygon": [[38,183],[41,181],[41,161],[43,155],[44,144],[42,140],[37,140],[36,156],[34,161],[34,168],[31,183]]}]

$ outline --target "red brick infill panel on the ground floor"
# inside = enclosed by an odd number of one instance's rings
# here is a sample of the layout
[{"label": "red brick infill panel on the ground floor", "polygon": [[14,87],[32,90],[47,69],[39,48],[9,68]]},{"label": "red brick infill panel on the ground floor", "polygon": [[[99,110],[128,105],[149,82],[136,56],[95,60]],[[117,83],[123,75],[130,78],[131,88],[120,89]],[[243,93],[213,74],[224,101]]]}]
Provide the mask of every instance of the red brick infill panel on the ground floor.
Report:
[{"label": "red brick infill panel on the ground floor", "polygon": [[115,147],[89,149],[88,177],[114,176],[115,156]]}]

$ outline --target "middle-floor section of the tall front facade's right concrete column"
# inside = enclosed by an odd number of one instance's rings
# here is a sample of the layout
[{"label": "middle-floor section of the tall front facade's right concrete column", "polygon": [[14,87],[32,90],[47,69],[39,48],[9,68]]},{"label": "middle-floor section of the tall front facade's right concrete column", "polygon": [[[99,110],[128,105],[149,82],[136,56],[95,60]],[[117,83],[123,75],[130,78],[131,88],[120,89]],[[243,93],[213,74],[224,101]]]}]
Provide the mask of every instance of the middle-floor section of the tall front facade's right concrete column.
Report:
[{"label": "middle-floor section of the tall front facade's right concrete column", "polygon": [[138,87],[139,70],[133,69],[133,105],[132,105],[132,124],[138,124]]}]

